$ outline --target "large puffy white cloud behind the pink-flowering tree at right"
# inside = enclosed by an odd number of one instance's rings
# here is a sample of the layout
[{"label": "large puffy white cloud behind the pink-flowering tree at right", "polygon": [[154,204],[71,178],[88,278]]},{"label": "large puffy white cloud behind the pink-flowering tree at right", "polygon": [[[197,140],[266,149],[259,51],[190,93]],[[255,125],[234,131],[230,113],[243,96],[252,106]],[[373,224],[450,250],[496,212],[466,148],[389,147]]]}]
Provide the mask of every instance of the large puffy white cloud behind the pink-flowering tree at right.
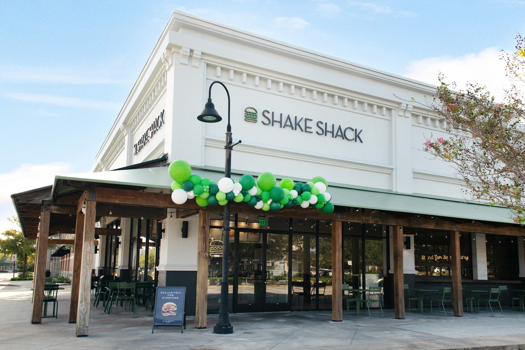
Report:
[{"label": "large puffy white cloud behind the pink-flowering tree at right", "polygon": [[495,47],[459,57],[440,56],[412,61],[405,76],[437,85],[439,71],[446,76],[447,82],[456,81],[458,89],[467,83],[487,86],[498,101],[505,97],[504,89],[510,87],[505,76],[505,61],[500,59],[500,51]]}]

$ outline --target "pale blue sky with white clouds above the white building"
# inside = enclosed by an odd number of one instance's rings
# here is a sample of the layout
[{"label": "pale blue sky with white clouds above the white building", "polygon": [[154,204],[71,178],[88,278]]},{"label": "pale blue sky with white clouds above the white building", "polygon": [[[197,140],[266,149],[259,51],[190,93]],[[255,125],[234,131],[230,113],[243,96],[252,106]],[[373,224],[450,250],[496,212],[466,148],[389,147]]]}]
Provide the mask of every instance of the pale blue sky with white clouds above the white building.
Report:
[{"label": "pale blue sky with white clouds above the white building", "polygon": [[[0,2],[0,222],[10,193],[88,171],[173,8],[433,83],[501,85],[525,1]],[[0,227],[2,229],[2,227]]]}]

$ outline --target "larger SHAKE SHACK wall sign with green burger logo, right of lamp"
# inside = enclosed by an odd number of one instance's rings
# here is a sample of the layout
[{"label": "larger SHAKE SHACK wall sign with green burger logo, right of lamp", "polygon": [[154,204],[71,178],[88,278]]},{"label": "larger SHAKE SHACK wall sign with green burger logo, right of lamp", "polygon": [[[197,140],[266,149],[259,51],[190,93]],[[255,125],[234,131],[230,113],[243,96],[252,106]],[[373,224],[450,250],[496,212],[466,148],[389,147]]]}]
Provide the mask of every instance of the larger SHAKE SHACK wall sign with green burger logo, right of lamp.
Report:
[{"label": "larger SHAKE SHACK wall sign with green burger logo, right of lamp", "polygon": [[[244,120],[256,123],[257,109],[254,107],[246,107],[244,110]],[[290,128],[293,131],[302,131],[306,133],[316,133],[319,136],[331,136],[334,139],[340,137],[345,141],[354,141],[363,143],[361,132],[359,128],[352,128],[349,126],[335,125],[327,121],[318,120],[314,122],[313,119],[307,117],[290,116],[283,113],[270,112],[265,109],[262,111],[262,118],[260,119],[262,125],[279,126],[279,128]]]}]

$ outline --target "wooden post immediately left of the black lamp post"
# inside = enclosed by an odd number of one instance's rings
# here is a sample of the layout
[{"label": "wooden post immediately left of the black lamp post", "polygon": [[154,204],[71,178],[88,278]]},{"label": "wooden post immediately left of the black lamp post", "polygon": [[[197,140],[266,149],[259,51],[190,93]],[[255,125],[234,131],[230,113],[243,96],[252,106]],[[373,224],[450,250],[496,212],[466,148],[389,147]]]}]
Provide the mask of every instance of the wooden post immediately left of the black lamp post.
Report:
[{"label": "wooden post immediately left of the black lamp post", "polygon": [[209,211],[198,213],[197,246],[197,300],[195,305],[195,328],[207,326],[208,312],[208,236]]}]

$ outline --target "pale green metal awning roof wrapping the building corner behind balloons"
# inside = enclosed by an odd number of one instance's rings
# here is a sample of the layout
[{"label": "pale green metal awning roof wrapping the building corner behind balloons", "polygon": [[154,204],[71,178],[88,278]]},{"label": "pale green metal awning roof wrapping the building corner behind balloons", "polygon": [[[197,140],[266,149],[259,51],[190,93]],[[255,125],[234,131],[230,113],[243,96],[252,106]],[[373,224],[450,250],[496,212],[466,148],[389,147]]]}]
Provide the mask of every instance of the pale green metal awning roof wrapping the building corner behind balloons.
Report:
[{"label": "pale green metal awning roof wrapping the building corner behind balloons", "polygon": [[[224,171],[224,170],[222,170]],[[193,167],[193,173],[218,181],[224,176],[220,168]],[[232,178],[238,179],[240,172],[232,171]],[[245,172],[243,172],[245,173]],[[257,173],[250,173],[257,176]],[[284,176],[283,176],[284,177]],[[278,179],[283,178],[277,176]],[[295,181],[309,180],[292,178]],[[171,188],[173,180],[167,167],[114,170],[103,172],[88,172],[56,176],[51,200],[67,194],[65,180],[86,181],[115,184],[120,186]],[[466,202],[455,198],[435,197],[425,194],[403,194],[389,190],[354,187],[340,183],[328,183],[328,192],[332,195],[332,203],[343,207],[367,208],[384,211],[435,215],[439,217],[460,218],[476,221],[492,221],[513,223],[513,214],[508,208]]]}]

